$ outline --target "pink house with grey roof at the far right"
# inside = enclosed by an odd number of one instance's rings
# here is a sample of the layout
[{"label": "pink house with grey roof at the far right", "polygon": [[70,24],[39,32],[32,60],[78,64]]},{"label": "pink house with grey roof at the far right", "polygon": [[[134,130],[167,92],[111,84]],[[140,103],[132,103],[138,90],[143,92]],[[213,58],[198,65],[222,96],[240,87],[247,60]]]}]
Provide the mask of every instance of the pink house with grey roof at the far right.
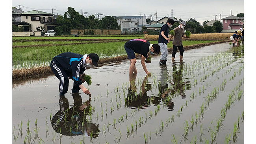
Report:
[{"label": "pink house with grey roof at the far right", "polygon": [[243,28],[243,18],[236,17],[234,15],[225,17],[223,20],[223,30],[221,33],[234,33],[234,31]]}]

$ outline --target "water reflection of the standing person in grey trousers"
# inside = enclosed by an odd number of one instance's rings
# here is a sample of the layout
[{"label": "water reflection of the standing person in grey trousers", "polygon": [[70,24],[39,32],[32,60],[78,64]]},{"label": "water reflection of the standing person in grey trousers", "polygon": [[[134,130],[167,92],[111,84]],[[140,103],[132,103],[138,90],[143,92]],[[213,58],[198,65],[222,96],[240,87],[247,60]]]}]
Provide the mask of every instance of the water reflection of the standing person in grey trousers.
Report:
[{"label": "water reflection of the standing person in grey trousers", "polygon": [[163,104],[167,105],[168,111],[173,111],[174,103],[169,96],[171,89],[168,88],[169,72],[167,70],[167,65],[160,65],[160,74],[160,82],[158,83],[159,96],[151,96],[152,103],[158,105],[160,100],[162,100]]}]

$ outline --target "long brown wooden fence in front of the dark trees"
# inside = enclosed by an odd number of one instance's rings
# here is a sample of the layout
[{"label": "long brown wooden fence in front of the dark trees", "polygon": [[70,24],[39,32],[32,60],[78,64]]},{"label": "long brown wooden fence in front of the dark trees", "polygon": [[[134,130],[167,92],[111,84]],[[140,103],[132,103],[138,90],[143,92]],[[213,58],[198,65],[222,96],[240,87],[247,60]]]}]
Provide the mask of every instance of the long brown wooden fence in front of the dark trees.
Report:
[{"label": "long brown wooden fence in front of the dark trees", "polygon": [[120,35],[121,30],[70,30],[70,35]]}]

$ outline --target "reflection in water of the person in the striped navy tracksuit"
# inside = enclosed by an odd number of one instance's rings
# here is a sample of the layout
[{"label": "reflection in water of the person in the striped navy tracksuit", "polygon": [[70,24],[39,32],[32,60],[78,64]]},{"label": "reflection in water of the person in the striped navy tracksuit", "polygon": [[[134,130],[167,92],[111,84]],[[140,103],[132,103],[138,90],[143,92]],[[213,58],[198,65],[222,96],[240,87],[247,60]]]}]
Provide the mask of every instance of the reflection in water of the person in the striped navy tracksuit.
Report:
[{"label": "reflection in water of the person in the striped navy tracksuit", "polygon": [[52,117],[52,128],[62,135],[86,135],[98,137],[98,125],[87,122],[91,98],[82,102],[79,93],[72,94],[74,106],[69,108],[69,101],[65,96],[59,97],[59,111]]}]

